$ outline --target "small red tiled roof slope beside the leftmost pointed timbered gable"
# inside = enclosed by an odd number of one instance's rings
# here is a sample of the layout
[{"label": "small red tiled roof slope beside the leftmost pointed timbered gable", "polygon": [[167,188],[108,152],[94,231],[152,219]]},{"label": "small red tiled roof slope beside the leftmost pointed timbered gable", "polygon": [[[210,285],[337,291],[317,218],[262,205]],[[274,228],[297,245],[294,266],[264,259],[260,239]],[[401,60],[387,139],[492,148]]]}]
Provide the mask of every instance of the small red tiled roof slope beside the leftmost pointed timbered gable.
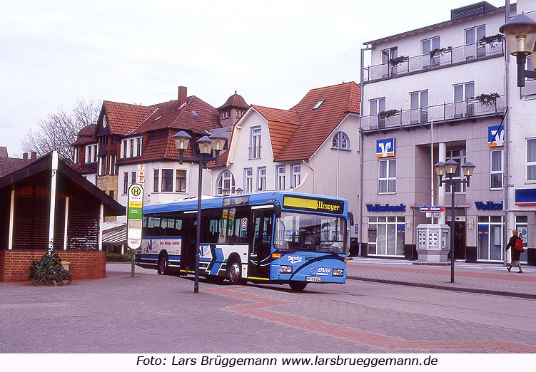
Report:
[{"label": "small red tiled roof slope beside the leftmost pointed timbered gable", "polygon": [[111,102],[109,100],[103,102],[103,108],[108,116],[111,133],[114,135],[125,135],[131,132],[156,110],[153,107]]}]

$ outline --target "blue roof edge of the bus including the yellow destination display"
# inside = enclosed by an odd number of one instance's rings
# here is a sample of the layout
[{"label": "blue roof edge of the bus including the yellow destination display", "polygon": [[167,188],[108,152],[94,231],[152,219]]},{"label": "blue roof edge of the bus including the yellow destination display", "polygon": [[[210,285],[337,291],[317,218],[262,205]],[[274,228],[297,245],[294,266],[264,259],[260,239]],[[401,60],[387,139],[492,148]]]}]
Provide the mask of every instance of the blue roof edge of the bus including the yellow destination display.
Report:
[{"label": "blue roof edge of the bus including the yellow destination display", "polygon": [[[287,197],[287,199],[285,199]],[[302,205],[303,201],[316,200],[321,209],[311,209],[307,205]],[[146,205],[143,207],[143,214],[182,212],[197,210],[197,197],[183,199],[177,202],[165,204]],[[330,205],[329,202],[335,204]],[[253,194],[230,195],[227,197],[201,197],[201,209],[233,207],[237,205],[270,205],[280,204],[282,210],[302,210],[303,212],[320,212],[328,215],[348,214],[348,201],[340,197],[326,195],[306,194],[303,192],[255,192]]]}]

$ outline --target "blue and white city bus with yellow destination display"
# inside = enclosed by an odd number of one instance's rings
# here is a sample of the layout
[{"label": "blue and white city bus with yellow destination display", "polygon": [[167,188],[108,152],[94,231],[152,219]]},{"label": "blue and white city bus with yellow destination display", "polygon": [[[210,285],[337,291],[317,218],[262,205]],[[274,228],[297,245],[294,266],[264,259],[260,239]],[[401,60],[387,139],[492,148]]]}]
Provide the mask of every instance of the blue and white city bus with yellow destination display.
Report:
[{"label": "blue and white city bus with yellow destination display", "polygon": [[[201,199],[199,274],[231,284],[345,283],[348,202],[297,192]],[[143,207],[136,264],[194,274],[197,198]]]}]

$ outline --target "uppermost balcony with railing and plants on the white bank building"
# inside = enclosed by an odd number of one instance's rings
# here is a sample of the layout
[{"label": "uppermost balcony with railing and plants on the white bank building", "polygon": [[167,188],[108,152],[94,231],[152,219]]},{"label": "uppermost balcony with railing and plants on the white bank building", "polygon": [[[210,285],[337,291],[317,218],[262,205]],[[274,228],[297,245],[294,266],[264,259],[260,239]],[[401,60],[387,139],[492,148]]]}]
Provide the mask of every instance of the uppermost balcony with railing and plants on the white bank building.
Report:
[{"label": "uppermost balcony with railing and plants on the white bank building", "polygon": [[418,73],[430,71],[435,68],[465,63],[467,61],[478,61],[484,58],[502,56],[505,53],[505,41],[495,41],[494,43],[472,43],[454,48],[443,48],[437,51],[434,56],[430,53],[422,56],[408,57],[406,61],[395,66],[390,63],[369,66],[363,68],[363,83],[375,81],[382,78],[393,78],[404,76],[408,73]]}]

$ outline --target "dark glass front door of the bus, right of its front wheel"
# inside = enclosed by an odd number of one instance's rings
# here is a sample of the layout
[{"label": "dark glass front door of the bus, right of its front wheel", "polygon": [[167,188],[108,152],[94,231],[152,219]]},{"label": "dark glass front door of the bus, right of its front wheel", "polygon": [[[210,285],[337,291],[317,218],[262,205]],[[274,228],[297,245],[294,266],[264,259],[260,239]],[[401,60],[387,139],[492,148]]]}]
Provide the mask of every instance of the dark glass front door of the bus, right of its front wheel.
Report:
[{"label": "dark glass front door of the bus, right of its front wheel", "polygon": [[273,210],[253,210],[253,237],[249,246],[248,278],[270,279]]}]

